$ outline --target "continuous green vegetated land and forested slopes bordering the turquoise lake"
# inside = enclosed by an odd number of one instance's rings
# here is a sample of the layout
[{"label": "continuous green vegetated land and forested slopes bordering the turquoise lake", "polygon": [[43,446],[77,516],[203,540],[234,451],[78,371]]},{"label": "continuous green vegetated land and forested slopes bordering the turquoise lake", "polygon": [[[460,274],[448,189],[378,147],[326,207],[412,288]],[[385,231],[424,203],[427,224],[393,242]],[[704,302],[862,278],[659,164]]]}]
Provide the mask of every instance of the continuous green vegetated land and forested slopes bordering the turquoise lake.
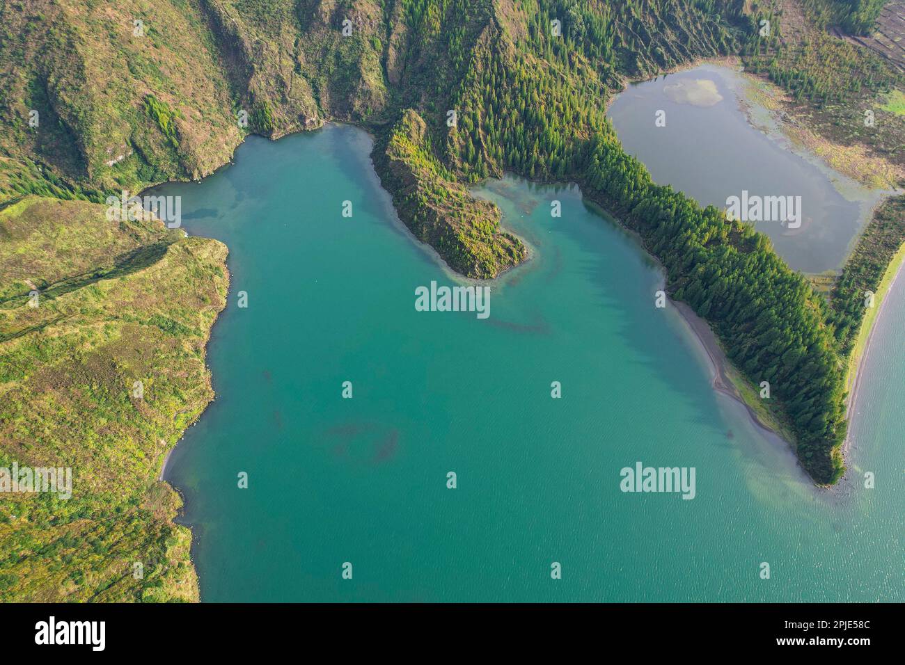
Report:
[{"label": "continuous green vegetated land and forested slopes bordering the turquoise lake", "polygon": [[[868,20],[866,5],[853,21]],[[857,254],[831,309],[766,236],[653,183],[605,117],[626,79],[730,54],[814,105],[900,84],[857,52],[845,74],[857,82],[839,89],[809,69],[810,46],[759,36],[770,16],[747,0],[0,3],[0,462],[52,457],[94,483],[65,511],[0,506],[0,598],[196,599],[177,500],[156,472],[211,398],[203,346],[223,307],[225,250],[151,222],[111,224],[101,202],[206,176],[248,133],[331,119],[374,133],[400,217],[470,277],[526,252],[466,185],[505,170],[576,180],[640,234],[672,296],[710,322],[748,380],[770,383],[805,470],[837,480],[853,294],[886,255]],[[21,261],[41,252],[61,261]],[[148,281],[170,264],[186,279]],[[148,297],[148,283],[168,297]],[[31,290],[52,305],[40,316]],[[156,390],[129,399],[143,375]],[[90,556],[76,551],[83,537]],[[136,552],[154,562],[143,579],[129,575]]]}]

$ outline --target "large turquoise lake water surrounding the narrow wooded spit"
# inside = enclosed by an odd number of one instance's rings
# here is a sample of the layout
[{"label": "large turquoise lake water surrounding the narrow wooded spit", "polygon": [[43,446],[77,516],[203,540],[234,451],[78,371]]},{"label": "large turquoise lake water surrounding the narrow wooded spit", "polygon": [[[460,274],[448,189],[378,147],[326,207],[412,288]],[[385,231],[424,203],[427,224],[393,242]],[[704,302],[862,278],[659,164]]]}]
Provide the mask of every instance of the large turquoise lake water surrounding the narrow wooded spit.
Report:
[{"label": "large turquoise lake water surrounding the narrow wooded spit", "polygon": [[[217,398],[167,465],[202,600],[905,600],[905,280],[853,430],[877,488],[814,489],[714,392],[654,307],[660,271],[575,186],[486,185],[531,260],[491,282],[490,318],[416,311],[417,287],[458,282],[398,222],[370,146],[349,127],[249,138],[233,166],[159,188],[230,248]],[[694,467],[695,498],[622,492],[636,461]]]}]

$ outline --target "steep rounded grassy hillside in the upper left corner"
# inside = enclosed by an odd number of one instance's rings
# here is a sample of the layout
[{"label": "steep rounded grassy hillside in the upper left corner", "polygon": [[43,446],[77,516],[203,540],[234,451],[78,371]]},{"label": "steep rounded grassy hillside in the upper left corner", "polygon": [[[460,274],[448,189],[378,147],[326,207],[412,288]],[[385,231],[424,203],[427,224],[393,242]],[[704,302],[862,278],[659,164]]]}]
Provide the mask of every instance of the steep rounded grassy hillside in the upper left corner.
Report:
[{"label": "steep rounded grassy hillside in the upper left corner", "polygon": [[0,105],[14,120],[0,145],[12,157],[73,181],[135,188],[208,174],[240,139],[196,3],[6,2],[0,34]]}]

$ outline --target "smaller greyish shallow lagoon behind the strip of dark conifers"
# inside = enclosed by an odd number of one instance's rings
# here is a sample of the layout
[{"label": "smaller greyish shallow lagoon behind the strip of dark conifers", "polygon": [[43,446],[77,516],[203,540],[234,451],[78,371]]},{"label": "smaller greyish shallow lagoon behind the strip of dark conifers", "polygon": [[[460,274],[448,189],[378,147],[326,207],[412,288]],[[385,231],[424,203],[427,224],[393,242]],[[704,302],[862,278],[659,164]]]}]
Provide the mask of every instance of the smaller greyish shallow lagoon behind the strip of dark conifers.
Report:
[{"label": "smaller greyish shallow lagoon behind the strip of dark conifers", "polygon": [[[702,205],[725,208],[730,196],[741,198],[743,192],[800,201],[798,228],[761,221],[757,230],[770,236],[795,270],[840,270],[873,206],[887,193],[790,150],[776,126],[769,127],[767,109],[747,99],[748,85],[738,71],[701,65],[631,85],[615,98],[609,116],[625,150],[656,182]],[[766,128],[752,124],[752,117]]]}]

